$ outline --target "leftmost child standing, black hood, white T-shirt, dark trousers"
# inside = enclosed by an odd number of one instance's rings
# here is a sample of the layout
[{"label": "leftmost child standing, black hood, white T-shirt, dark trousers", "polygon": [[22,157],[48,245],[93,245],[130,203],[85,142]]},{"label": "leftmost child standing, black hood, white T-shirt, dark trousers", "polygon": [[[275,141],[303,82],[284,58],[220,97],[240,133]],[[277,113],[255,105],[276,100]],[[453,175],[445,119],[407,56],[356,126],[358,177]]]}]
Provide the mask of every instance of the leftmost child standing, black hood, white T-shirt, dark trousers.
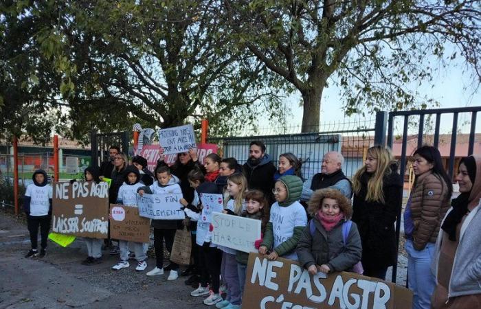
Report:
[{"label": "leftmost child standing, black hood, white T-shirt, dark trousers", "polygon": [[[27,227],[30,232],[32,249],[25,258],[43,258],[47,249],[48,231],[52,218],[52,186],[47,185],[47,173],[36,170],[32,176],[34,183],[27,186],[23,199],[23,210],[27,215]],[[38,227],[40,226],[41,251],[38,253]]]}]

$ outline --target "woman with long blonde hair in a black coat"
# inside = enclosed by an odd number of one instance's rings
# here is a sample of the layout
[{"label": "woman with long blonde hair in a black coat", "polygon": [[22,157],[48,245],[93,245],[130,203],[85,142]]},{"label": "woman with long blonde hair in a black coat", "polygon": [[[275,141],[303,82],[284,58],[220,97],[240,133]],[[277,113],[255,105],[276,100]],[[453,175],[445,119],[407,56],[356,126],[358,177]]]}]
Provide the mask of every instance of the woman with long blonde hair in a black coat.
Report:
[{"label": "woman with long blonde hair in a black coat", "polygon": [[401,207],[403,179],[391,150],[368,149],[366,161],[353,176],[353,222],[361,236],[364,275],[385,279],[397,255],[394,222]]}]

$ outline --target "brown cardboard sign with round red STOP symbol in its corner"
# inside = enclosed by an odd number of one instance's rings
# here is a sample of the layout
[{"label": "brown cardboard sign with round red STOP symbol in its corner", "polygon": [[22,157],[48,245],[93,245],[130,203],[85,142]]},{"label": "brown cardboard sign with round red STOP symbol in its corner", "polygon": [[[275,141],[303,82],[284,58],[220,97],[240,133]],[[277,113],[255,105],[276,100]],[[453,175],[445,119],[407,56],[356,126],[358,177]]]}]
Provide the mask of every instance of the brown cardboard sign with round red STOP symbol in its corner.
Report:
[{"label": "brown cardboard sign with round red STOP symbol in its corner", "polygon": [[139,216],[135,206],[110,205],[110,237],[129,242],[149,242],[150,219]]}]

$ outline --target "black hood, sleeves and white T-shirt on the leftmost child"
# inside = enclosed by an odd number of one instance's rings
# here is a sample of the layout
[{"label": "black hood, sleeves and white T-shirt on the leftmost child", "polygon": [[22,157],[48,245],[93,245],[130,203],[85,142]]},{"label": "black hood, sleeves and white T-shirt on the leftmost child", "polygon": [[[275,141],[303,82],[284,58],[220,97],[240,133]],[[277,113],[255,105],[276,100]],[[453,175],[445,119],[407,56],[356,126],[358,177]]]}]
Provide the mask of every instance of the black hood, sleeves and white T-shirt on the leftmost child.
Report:
[{"label": "black hood, sleeves and white T-shirt on the leftmost child", "polygon": [[[43,174],[43,182],[37,183],[36,174]],[[32,175],[31,183],[25,191],[23,210],[30,216],[47,216],[52,214],[52,186],[47,185],[47,173],[45,170],[36,170]]]}]

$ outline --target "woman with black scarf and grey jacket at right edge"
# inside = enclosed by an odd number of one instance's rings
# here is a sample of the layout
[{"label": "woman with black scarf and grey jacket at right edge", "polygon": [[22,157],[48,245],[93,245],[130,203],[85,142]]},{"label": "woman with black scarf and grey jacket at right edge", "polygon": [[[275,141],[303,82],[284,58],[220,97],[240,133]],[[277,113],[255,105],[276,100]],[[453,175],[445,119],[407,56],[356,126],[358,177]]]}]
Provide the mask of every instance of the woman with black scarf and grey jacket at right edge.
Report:
[{"label": "woman with black scarf and grey jacket at right edge", "polygon": [[451,201],[436,241],[432,308],[481,308],[481,157],[461,159]]}]

